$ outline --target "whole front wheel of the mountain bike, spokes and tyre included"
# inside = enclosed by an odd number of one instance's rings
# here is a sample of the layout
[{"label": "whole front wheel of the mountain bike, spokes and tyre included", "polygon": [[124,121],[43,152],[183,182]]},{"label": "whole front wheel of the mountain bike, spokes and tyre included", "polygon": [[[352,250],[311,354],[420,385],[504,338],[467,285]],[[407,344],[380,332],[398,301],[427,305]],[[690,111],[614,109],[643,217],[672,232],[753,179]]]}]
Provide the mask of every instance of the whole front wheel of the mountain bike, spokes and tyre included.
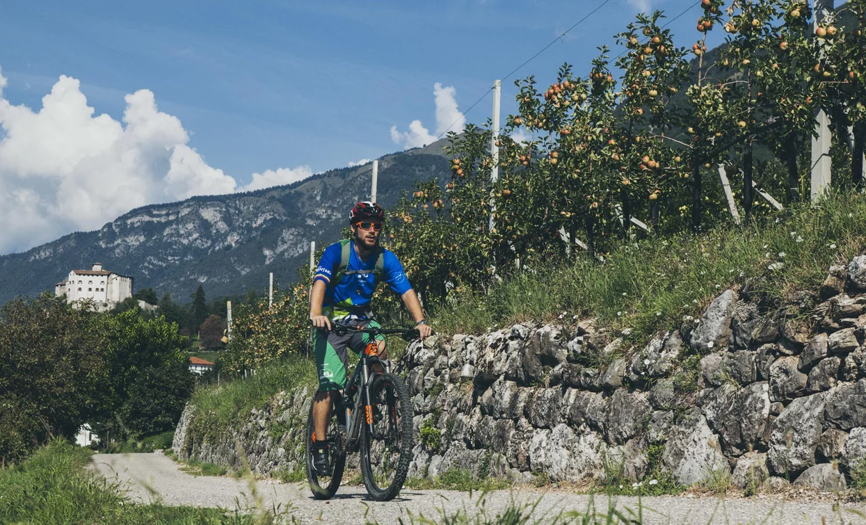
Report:
[{"label": "whole front wheel of the mountain bike, spokes and tyre included", "polygon": [[412,403],[403,380],[384,373],[370,388],[373,433],[364,425],[361,474],[373,500],[394,499],[403,488],[412,459]]}]

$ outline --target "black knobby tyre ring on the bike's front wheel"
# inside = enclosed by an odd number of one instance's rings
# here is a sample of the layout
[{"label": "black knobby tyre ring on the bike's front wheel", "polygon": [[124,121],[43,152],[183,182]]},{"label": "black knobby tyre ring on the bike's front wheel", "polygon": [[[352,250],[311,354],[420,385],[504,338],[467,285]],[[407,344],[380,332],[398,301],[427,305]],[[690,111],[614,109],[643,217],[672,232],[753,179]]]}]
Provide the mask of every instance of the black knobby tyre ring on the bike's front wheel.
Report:
[{"label": "black knobby tyre ring on the bike's front wheel", "polygon": [[[385,404],[389,399],[389,392],[392,394],[390,398],[393,408],[397,410],[396,426],[391,418],[391,406]],[[382,415],[383,419],[380,422],[386,424],[385,427],[377,425],[377,433],[379,427],[396,432],[396,436],[389,435],[394,437],[392,444],[399,453],[399,459],[391,482],[385,487],[380,487],[374,476],[376,465],[372,464],[371,447],[375,437],[369,435],[369,429],[364,425],[361,435],[361,474],[370,497],[378,502],[387,502],[400,493],[406,481],[406,474],[409,472],[409,463],[412,459],[412,402],[409,389],[403,379],[392,373],[383,373],[374,379],[370,393],[373,405],[378,406],[379,413]]]}]

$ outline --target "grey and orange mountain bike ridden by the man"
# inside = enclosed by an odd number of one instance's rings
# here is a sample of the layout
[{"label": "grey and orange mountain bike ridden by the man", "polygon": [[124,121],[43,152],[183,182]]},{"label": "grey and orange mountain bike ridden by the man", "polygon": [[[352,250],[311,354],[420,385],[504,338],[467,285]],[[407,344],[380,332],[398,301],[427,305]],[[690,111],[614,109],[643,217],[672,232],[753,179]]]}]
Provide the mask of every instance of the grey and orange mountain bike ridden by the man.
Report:
[{"label": "grey and orange mountain bike ridden by the man", "polygon": [[[412,455],[412,403],[403,379],[391,373],[391,361],[376,355],[377,335],[399,334],[418,338],[414,328],[353,327],[332,323],[335,334],[369,334],[370,342],[336,404],[331,405],[326,442],[330,477],[317,476],[313,468],[313,404],[307,417],[307,481],[316,499],[337,493],[346,468],[346,456],[359,451],[361,475],[370,497],[386,502],[399,494]],[[320,441],[320,437],[316,437]]]}]

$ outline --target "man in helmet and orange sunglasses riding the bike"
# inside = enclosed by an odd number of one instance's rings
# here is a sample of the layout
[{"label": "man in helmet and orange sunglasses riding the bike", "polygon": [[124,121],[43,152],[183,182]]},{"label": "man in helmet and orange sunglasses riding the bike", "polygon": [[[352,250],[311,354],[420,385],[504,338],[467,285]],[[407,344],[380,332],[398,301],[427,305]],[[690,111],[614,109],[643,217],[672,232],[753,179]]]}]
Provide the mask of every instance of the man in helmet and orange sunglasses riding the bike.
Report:
[{"label": "man in helmet and orange sunglasses riding the bike", "polygon": [[[331,322],[379,327],[371,319],[369,306],[376,283],[381,279],[400,295],[421,338],[432,333],[403,265],[390,250],[378,244],[384,218],[385,211],[379,204],[370,201],[355,204],[349,214],[352,238],[328,246],[313,275],[310,321],[316,327],[313,350],[319,371],[319,391],[313,404],[313,468],[319,476],[331,476],[324,437],[331,418],[331,405],[339,401],[340,391],[348,379],[346,347],[360,353],[369,337],[367,334],[334,334]],[[385,359],[384,336],[377,337],[377,347],[378,355]],[[316,443],[317,436],[321,437],[320,446]]]}]

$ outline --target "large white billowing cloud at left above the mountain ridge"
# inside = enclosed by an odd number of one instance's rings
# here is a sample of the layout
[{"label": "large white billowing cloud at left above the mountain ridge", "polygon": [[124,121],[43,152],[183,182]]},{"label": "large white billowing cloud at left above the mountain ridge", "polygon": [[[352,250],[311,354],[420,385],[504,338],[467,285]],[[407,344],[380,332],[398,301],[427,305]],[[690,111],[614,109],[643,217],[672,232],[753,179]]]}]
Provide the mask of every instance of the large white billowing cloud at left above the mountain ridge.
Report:
[{"label": "large white billowing cloud at left above the mountain ridge", "polygon": [[[38,110],[3,98],[0,70],[0,254],[94,230],[137,206],[236,191],[236,180],[189,146],[150,90],[127,94],[120,121],[87,105],[61,76]],[[307,166],[254,174],[246,191],[288,184]]]}]

